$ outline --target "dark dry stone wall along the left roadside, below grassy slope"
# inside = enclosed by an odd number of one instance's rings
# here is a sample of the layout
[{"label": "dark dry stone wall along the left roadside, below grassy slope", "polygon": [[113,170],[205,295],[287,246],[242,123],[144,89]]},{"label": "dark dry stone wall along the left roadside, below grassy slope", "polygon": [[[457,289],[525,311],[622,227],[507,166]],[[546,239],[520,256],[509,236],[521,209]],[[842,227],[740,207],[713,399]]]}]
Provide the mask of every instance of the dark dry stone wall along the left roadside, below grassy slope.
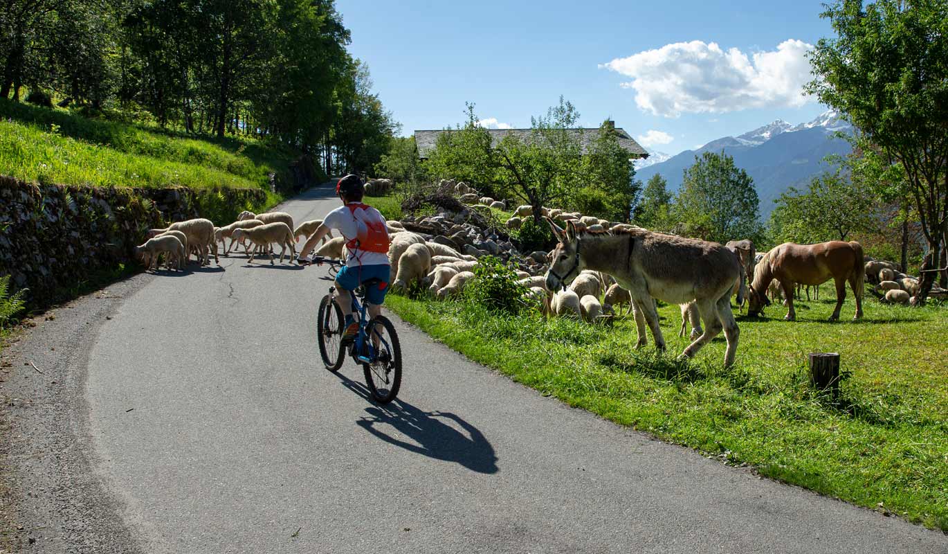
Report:
[{"label": "dark dry stone wall along the left roadside, below grassy slope", "polygon": [[97,272],[132,261],[148,229],[199,213],[226,220],[265,202],[259,189],[39,185],[0,175],[0,275],[28,288],[32,305],[49,305]]}]

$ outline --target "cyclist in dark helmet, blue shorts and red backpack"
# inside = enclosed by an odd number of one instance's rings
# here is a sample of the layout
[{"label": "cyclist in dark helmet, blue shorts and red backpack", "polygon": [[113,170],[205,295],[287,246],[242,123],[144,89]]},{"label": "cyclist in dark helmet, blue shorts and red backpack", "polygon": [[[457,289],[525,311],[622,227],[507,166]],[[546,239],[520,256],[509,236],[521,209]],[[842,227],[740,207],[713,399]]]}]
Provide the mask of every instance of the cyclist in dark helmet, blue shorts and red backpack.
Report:
[{"label": "cyclist in dark helmet, blue shorts and red backpack", "polygon": [[362,203],[365,187],[356,175],[346,175],[336,184],[336,194],[342,206],[329,212],[322,225],[309,237],[300,250],[297,262],[310,264],[307,257],[322,237],[331,229],[346,238],[346,265],[336,275],[338,305],[346,318],[346,330],[342,344],[353,342],[358,334],[358,323],[352,312],[352,291],[366,281],[376,279],[377,286],[366,289],[369,317],[382,313],[382,303],[389,290],[391,266],[389,265],[389,232],[385,218],[372,206]]}]

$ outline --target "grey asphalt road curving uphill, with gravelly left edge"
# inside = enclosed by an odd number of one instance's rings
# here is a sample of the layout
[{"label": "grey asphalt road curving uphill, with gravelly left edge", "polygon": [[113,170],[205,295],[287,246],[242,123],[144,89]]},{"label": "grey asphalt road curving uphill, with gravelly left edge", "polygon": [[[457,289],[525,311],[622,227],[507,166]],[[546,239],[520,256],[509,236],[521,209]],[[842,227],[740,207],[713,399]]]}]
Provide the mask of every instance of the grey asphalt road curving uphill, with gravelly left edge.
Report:
[{"label": "grey asphalt road curving uphill, with gravelly left edge", "polygon": [[[282,209],[337,203],[318,189]],[[0,386],[19,395],[25,551],[948,552],[541,397],[397,319],[402,388],[376,406],[351,360],[319,362],[325,271],[238,256],[141,275],[14,345]]]}]

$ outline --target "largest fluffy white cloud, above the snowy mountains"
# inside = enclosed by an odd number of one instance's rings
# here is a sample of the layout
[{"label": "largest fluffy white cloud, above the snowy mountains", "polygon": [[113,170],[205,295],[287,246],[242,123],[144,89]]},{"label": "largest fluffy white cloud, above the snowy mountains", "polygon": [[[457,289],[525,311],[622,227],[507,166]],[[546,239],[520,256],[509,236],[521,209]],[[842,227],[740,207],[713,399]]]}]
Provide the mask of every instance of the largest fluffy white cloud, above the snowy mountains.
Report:
[{"label": "largest fluffy white cloud, above the snowy mountains", "polygon": [[724,113],[761,107],[799,107],[813,102],[803,85],[811,80],[806,53],[813,46],[790,39],[748,57],[716,43],[675,43],[599,65],[631,78],[635,103],[654,115]]}]

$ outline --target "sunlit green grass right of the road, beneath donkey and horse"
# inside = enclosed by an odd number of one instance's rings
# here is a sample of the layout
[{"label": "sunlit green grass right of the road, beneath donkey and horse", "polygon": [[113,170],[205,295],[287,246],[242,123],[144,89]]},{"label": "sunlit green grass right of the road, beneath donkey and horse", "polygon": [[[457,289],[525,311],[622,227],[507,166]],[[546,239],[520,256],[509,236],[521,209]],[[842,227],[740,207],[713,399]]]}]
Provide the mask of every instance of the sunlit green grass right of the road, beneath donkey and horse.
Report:
[{"label": "sunlit green grass right of the road, beneath donkey and horse", "polygon": [[[668,353],[633,348],[635,326],[511,317],[464,303],[390,295],[399,316],[471,360],[617,423],[730,464],[948,531],[948,308],[866,302],[860,323],[826,323],[834,292],[740,320],[736,365],[719,339],[674,360],[678,306],[663,306]],[[854,311],[847,302],[843,317]],[[809,387],[806,355],[839,352],[839,401]]]}]

